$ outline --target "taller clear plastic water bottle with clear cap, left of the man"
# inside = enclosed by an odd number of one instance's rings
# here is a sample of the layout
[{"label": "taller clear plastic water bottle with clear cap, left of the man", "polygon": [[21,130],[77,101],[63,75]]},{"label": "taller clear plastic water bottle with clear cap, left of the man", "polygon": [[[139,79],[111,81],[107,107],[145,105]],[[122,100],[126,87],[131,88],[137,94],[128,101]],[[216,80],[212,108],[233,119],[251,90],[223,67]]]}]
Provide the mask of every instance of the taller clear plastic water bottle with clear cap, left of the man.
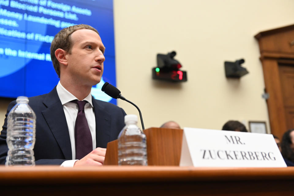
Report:
[{"label": "taller clear plastic water bottle with clear cap, left of the man", "polygon": [[17,104],[7,116],[8,153],[6,166],[34,166],[36,114],[28,105],[28,98],[17,97]]}]

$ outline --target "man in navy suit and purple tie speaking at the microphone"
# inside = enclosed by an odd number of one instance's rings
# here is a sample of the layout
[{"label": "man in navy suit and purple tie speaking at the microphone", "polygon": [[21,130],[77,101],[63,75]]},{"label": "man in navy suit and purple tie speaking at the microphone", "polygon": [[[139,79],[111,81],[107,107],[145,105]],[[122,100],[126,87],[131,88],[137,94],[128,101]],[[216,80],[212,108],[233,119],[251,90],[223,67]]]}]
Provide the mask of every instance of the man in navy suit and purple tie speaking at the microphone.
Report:
[{"label": "man in navy suit and purple tie speaking at the microphone", "polygon": [[[29,98],[29,105],[36,113],[36,164],[68,167],[102,165],[107,142],[117,139],[126,113],[113,104],[91,96],[92,86],[101,80],[105,60],[105,47],[99,33],[89,25],[62,29],[52,41],[50,50],[60,81],[50,93]],[[85,103],[82,113],[87,121],[85,129],[90,135],[89,144],[84,142],[82,145],[88,145],[91,149],[83,156],[80,151],[84,149],[77,145],[75,128],[77,114],[80,113],[77,101]],[[15,101],[9,104],[2,127],[0,164],[5,163],[8,151],[7,115],[15,104]],[[80,158],[76,158],[76,155]]]}]

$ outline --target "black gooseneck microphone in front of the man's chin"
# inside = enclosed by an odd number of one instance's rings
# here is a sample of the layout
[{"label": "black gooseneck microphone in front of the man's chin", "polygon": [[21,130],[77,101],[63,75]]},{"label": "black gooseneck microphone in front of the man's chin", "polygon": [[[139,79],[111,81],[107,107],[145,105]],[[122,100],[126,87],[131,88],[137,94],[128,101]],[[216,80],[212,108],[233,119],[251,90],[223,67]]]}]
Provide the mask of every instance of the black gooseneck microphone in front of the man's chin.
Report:
[{"label": "black gooseneck microphone in front of the man's chin", "polygon": [[106,93],[107,95],[111,96],[112,98],[120,98],[126,102],[129,102],[130,104],[132,104],[133,106],[135,106],[138,111],[139,111],[139,115],[140,115],[140,119],[141,119],[141,125],[142,125],[142,129],[144,130],[144,123],[143,123],[143,118],[142,118],[142,114],[140,109],[138,108],[138,106],[136,106],[133,102],[130,102],[129,100],[127,100],[126,98],[123,97],[122,94],[120,94],[120,90],[118,90],[115,86],[112,86],[111,84],[109,84],[108,82],[104,83],[104,85],[102,86],[101,90]]}]

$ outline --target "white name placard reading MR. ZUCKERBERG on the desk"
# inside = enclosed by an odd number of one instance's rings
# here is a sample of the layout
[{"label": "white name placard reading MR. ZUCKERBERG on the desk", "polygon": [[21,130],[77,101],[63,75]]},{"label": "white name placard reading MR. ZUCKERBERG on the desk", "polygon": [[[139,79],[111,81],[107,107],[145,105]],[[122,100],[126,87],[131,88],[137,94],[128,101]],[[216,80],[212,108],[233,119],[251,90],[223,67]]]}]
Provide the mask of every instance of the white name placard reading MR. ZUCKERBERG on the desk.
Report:
[{"label": "white name placard reading MR. ZUCKERBERG on the desk", "polygon": [[184,128],[180,166],[287,167],[271,134]]}]

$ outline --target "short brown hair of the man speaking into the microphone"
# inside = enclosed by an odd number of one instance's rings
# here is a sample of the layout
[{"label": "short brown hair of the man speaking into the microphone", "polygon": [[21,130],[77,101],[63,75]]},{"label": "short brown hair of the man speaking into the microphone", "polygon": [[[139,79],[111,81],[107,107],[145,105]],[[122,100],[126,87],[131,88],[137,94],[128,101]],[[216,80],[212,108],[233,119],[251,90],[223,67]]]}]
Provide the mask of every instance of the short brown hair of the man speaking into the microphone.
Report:
[{"label": "short brown hair of the man speaking into the microphone", "polygon": [[84,25],[84,24],[74,25],[74,26],[66,27],[62,29],[61,31],[59,31],[55,35],[53,41],[51,42],[50,55],[51,55],[53,67],[58,75],[58,78],[60,78],[60,65],[55,56],[55,51],[58,48],[61,48],[65,50],[66,52],[70,53],[72,45],[73,45],[70,39],[70,35],[79,29],[90,29],[98,33],[98,31],[95,28],[91,27],[90,25]]}]

